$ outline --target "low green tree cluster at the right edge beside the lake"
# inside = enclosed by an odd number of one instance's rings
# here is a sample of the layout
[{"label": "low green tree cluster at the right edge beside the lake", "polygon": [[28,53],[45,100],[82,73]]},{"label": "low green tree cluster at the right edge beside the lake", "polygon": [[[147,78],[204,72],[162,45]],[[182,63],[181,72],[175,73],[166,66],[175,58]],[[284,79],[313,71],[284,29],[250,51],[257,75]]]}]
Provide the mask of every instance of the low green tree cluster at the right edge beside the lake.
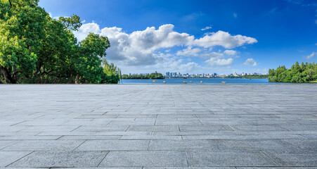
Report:
[{"label": "low green tree cluster at the right edge beside the lake", "polygon": [[317,63],[298,62],[292,65],[292,68],[285,68],[285,65],[269,70],[270,82],[317,82]]}]

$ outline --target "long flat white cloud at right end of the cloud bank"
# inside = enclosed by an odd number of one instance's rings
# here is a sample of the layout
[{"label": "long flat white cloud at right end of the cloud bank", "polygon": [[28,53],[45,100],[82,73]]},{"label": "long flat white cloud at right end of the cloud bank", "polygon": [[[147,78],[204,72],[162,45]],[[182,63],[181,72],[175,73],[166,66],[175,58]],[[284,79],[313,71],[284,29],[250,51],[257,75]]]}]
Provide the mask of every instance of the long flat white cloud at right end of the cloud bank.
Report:
[{"label": "long flat white cloud at right end of the cloud bank", "polygon": [[245,44],[257,43],[257,39],[253,37],[246,37],[242,35],[232,36],[228,32],[219,30],[218,32],[212,32],[211,35],[205,35],[200,39],[195,39],[193,44],[202,47],[223,46],[226,49],[233,49]]}]

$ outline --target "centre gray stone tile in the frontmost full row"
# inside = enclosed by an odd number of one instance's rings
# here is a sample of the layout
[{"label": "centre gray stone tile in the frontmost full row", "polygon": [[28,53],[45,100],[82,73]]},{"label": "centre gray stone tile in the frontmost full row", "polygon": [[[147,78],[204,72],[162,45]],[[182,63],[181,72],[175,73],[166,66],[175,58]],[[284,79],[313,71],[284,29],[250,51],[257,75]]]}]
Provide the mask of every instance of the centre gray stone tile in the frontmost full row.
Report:
[{"label": "centre gray stone tile in the frontmost full row", "polygon": [[186,167],[183,151],[110,151],[100,167]]}]

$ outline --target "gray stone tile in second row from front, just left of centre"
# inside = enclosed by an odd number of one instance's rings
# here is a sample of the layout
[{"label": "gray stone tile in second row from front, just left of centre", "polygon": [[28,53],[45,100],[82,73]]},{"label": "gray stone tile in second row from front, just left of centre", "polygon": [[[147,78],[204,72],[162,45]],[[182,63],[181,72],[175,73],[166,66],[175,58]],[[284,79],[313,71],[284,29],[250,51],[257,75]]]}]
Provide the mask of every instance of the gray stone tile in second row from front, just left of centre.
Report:
[{"label": "gray stone tile in second row from front, just left of centre", "polygon": [[76,151],[146,150],[148,140],[87,140]]}]

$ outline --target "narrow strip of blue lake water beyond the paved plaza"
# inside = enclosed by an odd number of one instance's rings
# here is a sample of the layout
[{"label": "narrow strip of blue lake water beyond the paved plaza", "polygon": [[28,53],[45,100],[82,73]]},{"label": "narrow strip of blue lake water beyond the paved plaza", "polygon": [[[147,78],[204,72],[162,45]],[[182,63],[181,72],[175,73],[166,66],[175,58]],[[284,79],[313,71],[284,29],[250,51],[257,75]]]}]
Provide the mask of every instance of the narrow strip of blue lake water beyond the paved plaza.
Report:
[{"label": "narrow strip of blue lake water beyond the paved plaza", "polygon": [[[221,84],[221,82],[226,82],[226,84],[278,84],[278,82],[269,82],[268,79],[227,79],[227,78],[170,78],[164,80],[156,80],[157,82],[153,82],[153,80],[135,80],[135,79],[124,79],[121,81],[122,84],[183,84],[183,82],[187,82],[187,84]],[[192,81],[193,83],[190,83]]]}]

